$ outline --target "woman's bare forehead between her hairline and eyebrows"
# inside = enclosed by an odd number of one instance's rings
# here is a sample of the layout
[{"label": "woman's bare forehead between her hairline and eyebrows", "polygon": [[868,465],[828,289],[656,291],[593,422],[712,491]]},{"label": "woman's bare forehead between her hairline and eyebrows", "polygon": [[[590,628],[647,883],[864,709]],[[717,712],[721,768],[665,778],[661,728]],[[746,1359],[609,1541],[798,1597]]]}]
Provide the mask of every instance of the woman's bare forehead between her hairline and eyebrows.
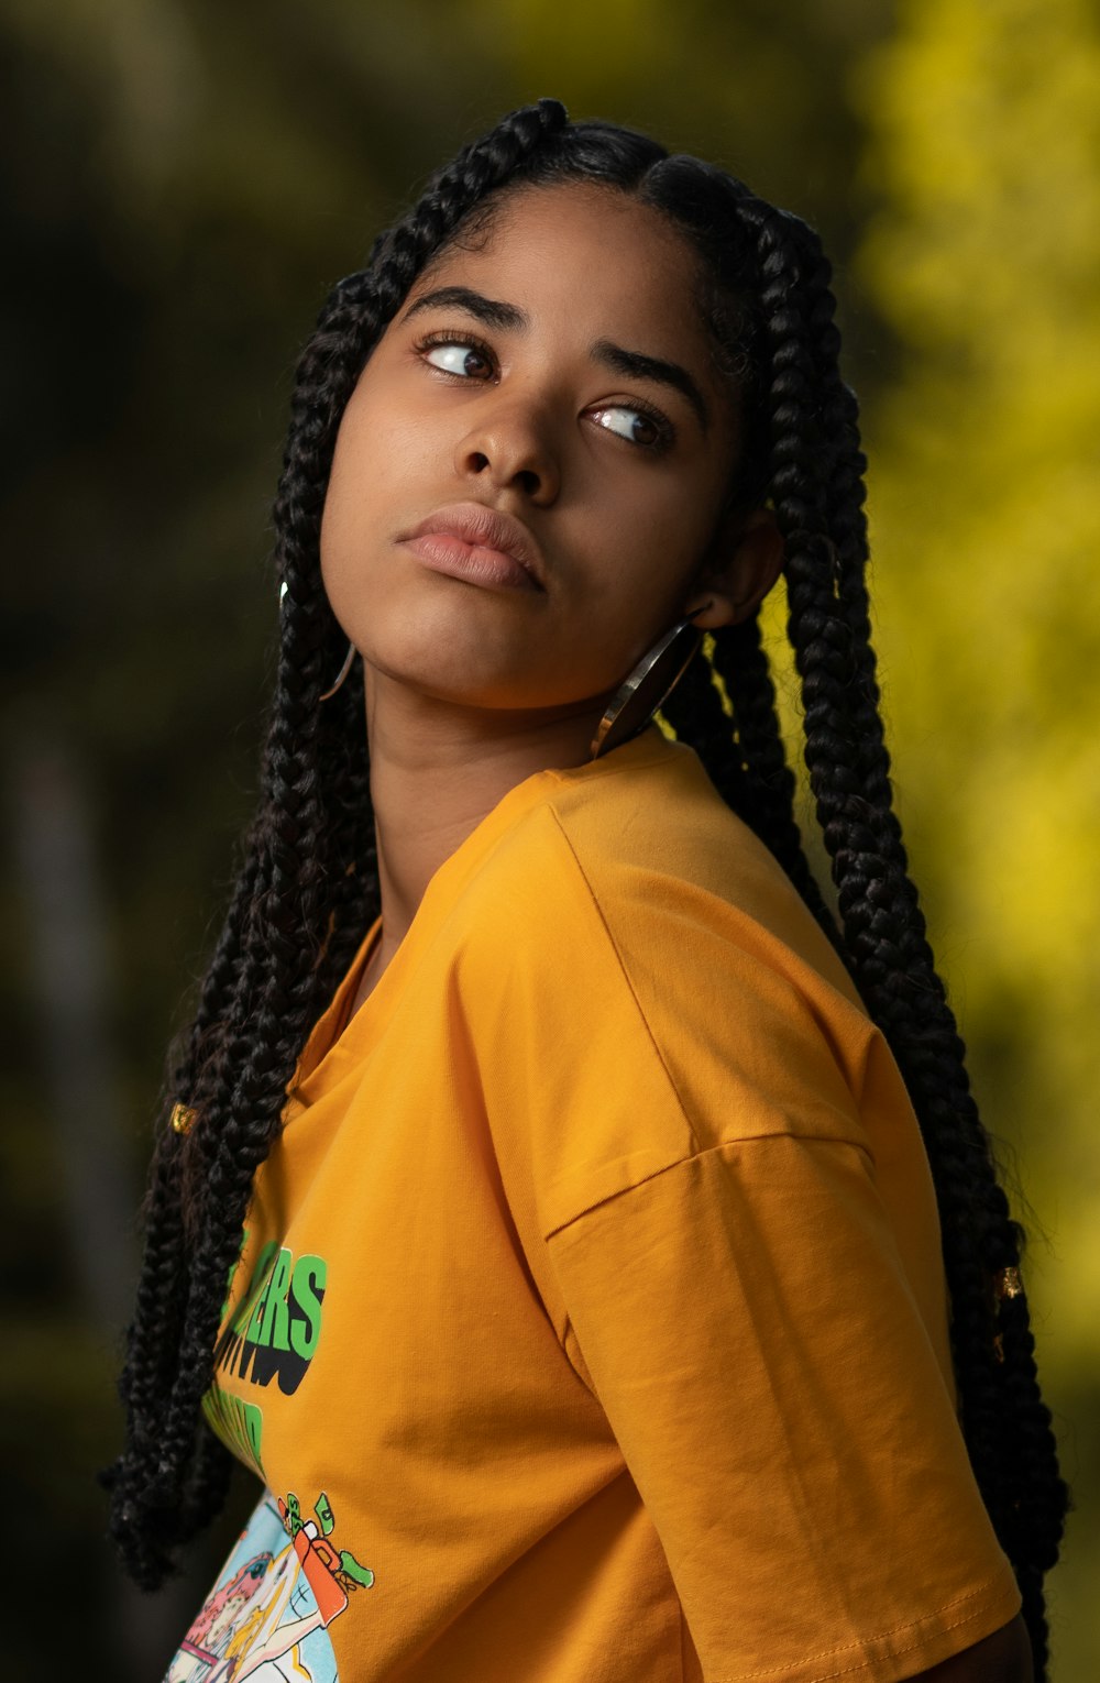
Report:
[{"label": "woman's bare forehead between her hairline and eyebrows", "polygon": [[407,301],[461,281],[520,305],[535,325],[708,360],[696,269],[658,210],[617,188],[569,182],[503,195],[486,226],[474,222],[417,278]]}]

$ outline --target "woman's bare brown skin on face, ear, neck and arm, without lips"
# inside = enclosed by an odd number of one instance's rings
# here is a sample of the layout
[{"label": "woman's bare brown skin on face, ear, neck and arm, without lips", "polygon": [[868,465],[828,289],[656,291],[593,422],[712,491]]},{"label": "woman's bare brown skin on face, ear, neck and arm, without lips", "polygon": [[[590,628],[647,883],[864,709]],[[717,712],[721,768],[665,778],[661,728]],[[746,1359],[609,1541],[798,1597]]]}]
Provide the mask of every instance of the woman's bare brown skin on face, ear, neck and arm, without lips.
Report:
[{"label": "woman's bare brown skin on face, ear, neck and arm, without lips", "polygon": [[[693,271],[668,224],[617,192],[516,194],[488,237],[420,276],[358,380],[321,525],[325,586],[363,656],[382,892],[352,1010],[508,789],[590,757],[607,700],[676,619],[733,624],[779,576],[772,515],[727,507],[738,422],[683,310]],[[511,316],[486,320],[486,301]],[[523,522],[542,589],[409,552],[402,534],[459,502]],[[1031,1683],[1023,1619],[908,1676]]]}]

